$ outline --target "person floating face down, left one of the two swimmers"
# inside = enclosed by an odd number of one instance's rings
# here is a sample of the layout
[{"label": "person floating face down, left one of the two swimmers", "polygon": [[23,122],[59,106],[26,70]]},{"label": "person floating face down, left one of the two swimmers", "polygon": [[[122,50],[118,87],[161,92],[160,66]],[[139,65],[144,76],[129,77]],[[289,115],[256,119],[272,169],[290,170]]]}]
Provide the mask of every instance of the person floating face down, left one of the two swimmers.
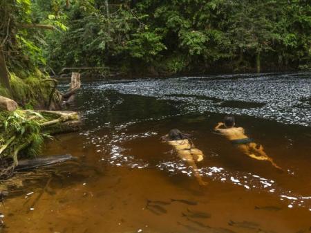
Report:
[{"label": "person floating face down, left one of the two swimmers", "polygon": [[190,140],[190,135],[182,133],[178,129],[172,129],[169,134],[161,138],[167,144],[173,146],[178,153],[180,159],[186,161],[194,172],[196,180],[199,185],[207,185],[208,183],[202,180],[196,162],[203,160],[203,153],[199,149],[194,147],[194,144]]}]

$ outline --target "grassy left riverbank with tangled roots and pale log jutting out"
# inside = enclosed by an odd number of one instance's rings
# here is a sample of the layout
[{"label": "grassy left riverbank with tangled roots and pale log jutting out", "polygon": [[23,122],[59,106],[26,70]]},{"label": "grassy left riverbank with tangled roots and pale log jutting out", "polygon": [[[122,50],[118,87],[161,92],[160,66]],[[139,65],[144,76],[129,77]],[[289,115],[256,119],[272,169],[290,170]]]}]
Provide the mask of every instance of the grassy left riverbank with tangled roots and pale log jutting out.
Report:
[{"label": "grassy left riverbank with tangled roots and pale log jutting out", "polygon": [[1,111],[0,119],[0,179],[12,176],[22,158],[39,156],[46,139],[81,125],[77,113],[70,111]]}]

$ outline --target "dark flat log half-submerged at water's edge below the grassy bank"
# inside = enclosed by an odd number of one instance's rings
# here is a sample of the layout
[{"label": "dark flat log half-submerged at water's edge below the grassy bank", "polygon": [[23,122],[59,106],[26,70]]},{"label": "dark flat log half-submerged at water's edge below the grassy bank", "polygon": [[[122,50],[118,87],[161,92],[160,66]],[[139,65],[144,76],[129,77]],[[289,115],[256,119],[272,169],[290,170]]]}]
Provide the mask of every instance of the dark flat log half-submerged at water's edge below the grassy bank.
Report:
[{"label": "dark flat log half-submerged at water's edge below the grassy bank", "polygon": [[19,165],[15,167],[15,171],[24,171],[28,169],[34,169],[37,167],[55,165],[59,162],[66,162],[68,160],[74,160],[74,159],[75,157],[69,154],[66,154],[66,155],[59,155],[59,156],[47,156],[47,157],[19,160]]}]

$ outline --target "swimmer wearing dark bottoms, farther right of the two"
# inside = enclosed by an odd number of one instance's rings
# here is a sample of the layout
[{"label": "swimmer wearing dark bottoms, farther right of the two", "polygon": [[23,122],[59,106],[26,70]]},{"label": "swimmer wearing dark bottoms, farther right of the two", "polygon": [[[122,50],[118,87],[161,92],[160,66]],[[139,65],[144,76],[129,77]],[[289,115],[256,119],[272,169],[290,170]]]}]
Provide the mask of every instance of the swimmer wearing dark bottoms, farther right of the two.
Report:
[{"label": "swimmer wearing dark bottoms, farther right of the two", "polygon": [[235,124],[236,123],[233,116],[226,116],[223,122],[218,122],[214,130],[218,131],[220,134],[229,139],[233,145],[236,145],[240,151],[242,151],[250,158],[269,161],[271,162],[272,166],[283,170],[281,167],[276,165],[272,158],[267,156],[265,151],[263,151],[262,145],[258,145],[253,142],[251,138],[248,138],[245,135],[244,129],[242,127],[234,127]]}]

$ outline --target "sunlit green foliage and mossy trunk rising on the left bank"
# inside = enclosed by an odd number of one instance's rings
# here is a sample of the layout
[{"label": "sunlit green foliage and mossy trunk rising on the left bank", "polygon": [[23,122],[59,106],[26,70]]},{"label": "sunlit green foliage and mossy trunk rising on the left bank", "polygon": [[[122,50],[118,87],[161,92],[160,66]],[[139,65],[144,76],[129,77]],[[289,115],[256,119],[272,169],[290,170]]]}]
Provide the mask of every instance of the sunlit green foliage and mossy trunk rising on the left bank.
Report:
[{"label": "sunlit green foliage and mossy trunk rising on the left bank", "polygon": [[38,10],[30,0],[0,1],[0,95],[21,106],[47,108],[58,95],[53,91],[55,81],[45,72],[45,31],[66,27],[57,19],[38,21]]}]

